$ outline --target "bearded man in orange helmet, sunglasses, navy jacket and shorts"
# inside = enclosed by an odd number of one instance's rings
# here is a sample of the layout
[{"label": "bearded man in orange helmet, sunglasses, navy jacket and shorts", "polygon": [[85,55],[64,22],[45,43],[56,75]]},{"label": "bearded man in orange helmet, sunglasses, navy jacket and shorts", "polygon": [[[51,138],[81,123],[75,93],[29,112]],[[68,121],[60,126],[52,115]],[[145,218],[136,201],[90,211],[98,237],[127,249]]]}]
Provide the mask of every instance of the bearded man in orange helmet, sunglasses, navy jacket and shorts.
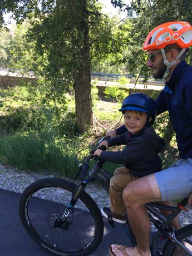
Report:
[{"label": "bearded man in orange helmet, sunglasses, navy jacket and shorts", "polygon": [[[180,160],[170,168],[129,183],[123,192],[127,218],[135,234],[135,248],[112,244],[115,256],[151,256],[150,219],[145,204],[188,197],[192,192],[192,67],[185,62],[192,45],[192,27],[188,22],[168,22],[147,35],[143,50],[148,52],[147,67],[155,78],[165,80],[164,90],[156,99],[157,115],[168,110],[176,133]],[[109,132],[116,136],[125,127]],[[189,203],[191,203],[191,197]],[[175,221],[175,226],[177,226]]]}]

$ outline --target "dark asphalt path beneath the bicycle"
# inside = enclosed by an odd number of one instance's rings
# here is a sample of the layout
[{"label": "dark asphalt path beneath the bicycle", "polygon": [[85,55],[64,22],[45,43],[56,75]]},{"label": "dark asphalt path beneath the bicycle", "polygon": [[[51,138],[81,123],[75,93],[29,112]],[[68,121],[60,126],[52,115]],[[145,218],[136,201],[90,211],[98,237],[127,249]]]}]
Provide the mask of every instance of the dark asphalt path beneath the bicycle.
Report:
[{"label": "dark asphalt path beneath the bicycle", "polygon": [[[38,246],[22,227],[18,214],[21,194],[0,189],[1,223],[0,256],[50,256]],[[99,247],[90,256],[109,256],[108,248],[112,243],[130,245],[124,225],[117,223],[112,228],[104,218],[104,237]]]}]

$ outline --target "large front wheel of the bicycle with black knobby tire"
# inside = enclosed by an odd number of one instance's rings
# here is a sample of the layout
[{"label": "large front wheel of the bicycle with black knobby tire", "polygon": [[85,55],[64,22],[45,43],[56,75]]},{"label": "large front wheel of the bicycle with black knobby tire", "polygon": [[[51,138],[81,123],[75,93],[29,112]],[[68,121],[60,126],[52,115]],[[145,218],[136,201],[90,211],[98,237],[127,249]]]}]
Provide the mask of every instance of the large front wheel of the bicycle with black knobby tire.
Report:
[{"label": "large front wheel of the bicycle with black knobby tire", "polygon": [[85,191],[68,216],[72,221],[69,230],[53,227],[54,219],[63,213],[75,188],[75,184],[64,179],[40,179],[24,190],[19,202],[19,215],[28,235],[55,255],[89,255],[103,237],[104,221],[100,210]]}]

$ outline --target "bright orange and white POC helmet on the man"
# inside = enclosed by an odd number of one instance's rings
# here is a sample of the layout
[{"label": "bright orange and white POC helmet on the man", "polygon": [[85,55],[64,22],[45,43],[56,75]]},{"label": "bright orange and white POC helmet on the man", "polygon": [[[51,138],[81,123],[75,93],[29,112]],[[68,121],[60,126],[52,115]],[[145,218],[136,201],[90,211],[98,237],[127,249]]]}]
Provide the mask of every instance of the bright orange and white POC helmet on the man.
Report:
[{"label": "bright orange and white POC helmet on the man", "polygon": [[152,29],[146,37],[143,50],[163,49],[173,43],[181,49],[192,45],[192,27],[188,22],[171,21]]}]

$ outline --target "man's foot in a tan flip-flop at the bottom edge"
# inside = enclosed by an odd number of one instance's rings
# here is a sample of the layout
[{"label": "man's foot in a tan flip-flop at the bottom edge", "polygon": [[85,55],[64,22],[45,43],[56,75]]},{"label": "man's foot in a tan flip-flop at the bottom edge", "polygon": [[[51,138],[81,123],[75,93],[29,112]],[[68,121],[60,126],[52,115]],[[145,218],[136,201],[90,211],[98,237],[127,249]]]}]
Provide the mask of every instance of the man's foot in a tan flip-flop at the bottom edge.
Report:
[{"label": "man's foot in a tan flip-flop at the bottom edge", "polygon": [[109,248],[112,256],[151,256],[151,253],[138,252],[136,247],[127,247],[125,245],[112,244]]}]

